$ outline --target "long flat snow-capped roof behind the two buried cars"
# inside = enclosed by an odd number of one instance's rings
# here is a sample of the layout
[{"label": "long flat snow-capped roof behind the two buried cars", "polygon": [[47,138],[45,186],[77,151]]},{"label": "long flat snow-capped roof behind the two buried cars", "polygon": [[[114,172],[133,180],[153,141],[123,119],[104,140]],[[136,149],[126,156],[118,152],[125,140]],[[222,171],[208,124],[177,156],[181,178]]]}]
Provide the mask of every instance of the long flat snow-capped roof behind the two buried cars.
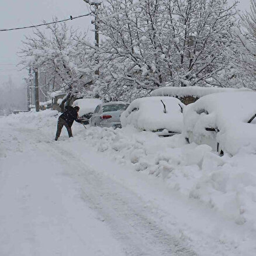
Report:
[{"label": "long flat snow-capped roof behind the two buried cars", "polygon": [[231,91],[251,91],[248,88],[220,88],[220,87],[162,87],[155,89],[151,92],[151,96],[193,96],[200,98],[208,94],[214,94],[216,92],[231,92]]}]

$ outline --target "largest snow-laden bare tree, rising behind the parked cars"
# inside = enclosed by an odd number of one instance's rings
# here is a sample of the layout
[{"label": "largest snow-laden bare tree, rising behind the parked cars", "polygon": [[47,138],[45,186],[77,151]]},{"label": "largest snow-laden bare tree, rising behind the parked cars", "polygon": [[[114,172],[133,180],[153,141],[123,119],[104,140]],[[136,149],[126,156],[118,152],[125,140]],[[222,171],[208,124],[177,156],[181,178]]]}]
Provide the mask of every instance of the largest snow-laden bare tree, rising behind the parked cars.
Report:
[{"label": "largest snow-laden bare tree, rising behind the parked cars", "polygon": [[106,0],[98,12],[105,95],[174,86],[222,85],[236,4],[227,0]]}]

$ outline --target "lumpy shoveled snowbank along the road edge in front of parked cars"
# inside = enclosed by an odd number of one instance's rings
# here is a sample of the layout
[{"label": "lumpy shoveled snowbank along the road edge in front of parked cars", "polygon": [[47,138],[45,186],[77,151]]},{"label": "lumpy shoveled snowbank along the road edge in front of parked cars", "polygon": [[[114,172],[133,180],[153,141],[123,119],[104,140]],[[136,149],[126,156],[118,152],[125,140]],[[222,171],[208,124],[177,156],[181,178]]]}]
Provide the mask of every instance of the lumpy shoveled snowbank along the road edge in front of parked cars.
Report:
[{"label": "lumpy shoveled snowbank along the road edge in front of parked cars", "polygon": [[[60,141],[56,142],[57,117],[57,111],[44,110],[10,115],[2,120],[5,126],[22,127],[24,133],[36,129],[44,134],[37,138],[38,143],[53,141],[80,158],[84,158],[84,147],[88,147],[109,160],[140,171],[141,175],[158,177],[163,185],[182,196],[202,202],[237,224],[247,222],[256,230],[256,154],[250,148],[241,148],[234,157],[229,154],[220,157],[207,145],[186,144],[182,135],[160,138],[131,126],[116,130],[85,129],[78,123],[72,126],[72,139],[68,139],[63,128]],[[15,140],[12,134],[10,140]],[[5,145],[8,147],[8,143]],[[5,157],[13,150],[13,147],[1,148],[0,156]]]}]

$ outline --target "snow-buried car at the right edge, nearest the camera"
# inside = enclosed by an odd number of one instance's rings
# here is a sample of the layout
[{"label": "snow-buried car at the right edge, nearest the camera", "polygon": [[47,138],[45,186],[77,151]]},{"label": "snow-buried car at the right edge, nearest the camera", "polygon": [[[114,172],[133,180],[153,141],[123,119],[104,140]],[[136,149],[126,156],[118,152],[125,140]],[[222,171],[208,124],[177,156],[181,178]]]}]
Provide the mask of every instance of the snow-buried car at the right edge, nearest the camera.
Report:
[{"label": "snow-buried car at the right edge, nearest the camera", "polygon": [[189,143],[207,144],[219,154],[256,148],[256,92],[206,95],[184,110],[184,136]]}]

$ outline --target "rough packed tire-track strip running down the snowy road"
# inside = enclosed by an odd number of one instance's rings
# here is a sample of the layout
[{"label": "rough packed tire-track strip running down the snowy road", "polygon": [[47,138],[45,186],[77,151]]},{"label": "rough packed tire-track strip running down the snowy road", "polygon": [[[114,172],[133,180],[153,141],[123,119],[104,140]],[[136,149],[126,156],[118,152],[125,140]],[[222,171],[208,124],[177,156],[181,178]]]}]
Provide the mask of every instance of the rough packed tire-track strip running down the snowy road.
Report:
[{"label": "rough packed tire-track strip running down the snowy road", "polygon": [[127,255],[197,255],[184,241],[162,229],[150,216],[151,209],[134,192],[95,171],[57,144],[51,143],[50,150],[49,144],[44,146],[67,164],[65,171],[79,182],[82,198],[98,212],[99,219],[108,223]]}]

